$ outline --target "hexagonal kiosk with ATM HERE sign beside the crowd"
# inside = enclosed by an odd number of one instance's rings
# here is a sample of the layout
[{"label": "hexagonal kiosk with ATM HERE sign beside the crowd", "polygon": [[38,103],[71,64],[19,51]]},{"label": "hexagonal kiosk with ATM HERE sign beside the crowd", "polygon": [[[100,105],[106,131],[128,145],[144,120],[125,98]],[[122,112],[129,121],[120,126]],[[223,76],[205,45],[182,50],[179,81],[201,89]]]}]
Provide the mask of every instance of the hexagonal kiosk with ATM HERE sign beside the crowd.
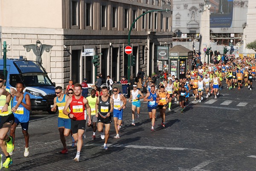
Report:
[{"label": "hexagonal kiosk with ATM HERE sign beside the crowd", "polygon": [[169,50],[169,73],[175,78],[185,78],[187,70],[192,70],[193,51],[181,45]]}]

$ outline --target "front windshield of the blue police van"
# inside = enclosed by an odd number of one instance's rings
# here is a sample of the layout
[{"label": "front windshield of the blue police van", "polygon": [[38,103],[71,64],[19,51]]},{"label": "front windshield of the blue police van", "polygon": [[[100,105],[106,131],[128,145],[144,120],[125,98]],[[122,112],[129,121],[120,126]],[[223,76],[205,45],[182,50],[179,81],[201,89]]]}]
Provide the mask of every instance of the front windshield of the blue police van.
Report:
[{"label": "front windshield of the blue police van", "polygon": [[26,73],[22,76],[26,87],[54,86],[45,73]]}]

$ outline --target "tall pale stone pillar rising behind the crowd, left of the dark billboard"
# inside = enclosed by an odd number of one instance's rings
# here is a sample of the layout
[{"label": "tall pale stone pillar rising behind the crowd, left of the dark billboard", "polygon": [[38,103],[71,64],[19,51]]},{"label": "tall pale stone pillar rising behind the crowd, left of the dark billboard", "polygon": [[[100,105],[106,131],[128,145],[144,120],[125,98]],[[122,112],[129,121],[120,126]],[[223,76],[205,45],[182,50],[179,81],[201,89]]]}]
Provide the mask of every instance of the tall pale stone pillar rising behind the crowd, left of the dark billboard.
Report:
[{"label": "tall pale stone pillar rising behind the crowd, left of the dark billboard", "polygon": [[[202,10],[201,25],[200,25],[200,37],[201,44],[199,51],[202,52],[204,48],[210,48],[210,5],[209,0],[204,0],[204,10]],[[209,63],[209,58],[201,57],[202,62]]]}]

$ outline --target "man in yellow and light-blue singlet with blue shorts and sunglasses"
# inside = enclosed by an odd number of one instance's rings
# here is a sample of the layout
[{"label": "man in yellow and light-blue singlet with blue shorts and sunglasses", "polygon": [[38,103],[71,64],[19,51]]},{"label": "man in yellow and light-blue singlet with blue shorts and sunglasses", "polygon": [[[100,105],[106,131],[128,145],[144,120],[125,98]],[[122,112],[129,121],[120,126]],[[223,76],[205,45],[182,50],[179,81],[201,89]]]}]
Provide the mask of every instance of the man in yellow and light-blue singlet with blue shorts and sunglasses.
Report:
[{"label": "man in yellow and light-blue singlet with blue shorts and sunglasses", "polygon": [[[55,94],[57,95],[53,100],[53,107],[52,112],[56,112],[58,107],[58,130],[60,133],[61,143],[63,145],[63,150],[60,152],[61,154],[67,153],[67,144],[66,144],[66,138],[70,135],[70,128],[71,128],[71,121],[70,118],[63,113],[64,106],[66,104],[67,99],[69,98],[68,95],[62,93],[62,87],[57,86],[55,88]],[[69,109],[68,109],[68,112]]]}]

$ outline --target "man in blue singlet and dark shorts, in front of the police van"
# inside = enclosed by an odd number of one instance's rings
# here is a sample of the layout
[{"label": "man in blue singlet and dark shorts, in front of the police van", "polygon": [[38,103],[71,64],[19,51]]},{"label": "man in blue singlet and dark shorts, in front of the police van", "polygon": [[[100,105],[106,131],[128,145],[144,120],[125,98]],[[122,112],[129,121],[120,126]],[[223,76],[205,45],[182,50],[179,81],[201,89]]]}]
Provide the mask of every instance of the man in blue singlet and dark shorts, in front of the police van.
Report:
[{"label": "man in blue singlet and dark shorts, in front of the police van", "polygon": [[[24,156],[28,157],[29,155],[29,133],[28,133],[28,129],[29,129],[29,111],[31,110],[31,101],[30,101],[30,97],[28,93],[23,93],[24,90],[24,84],[21,82],[18,82],[16,84],[16,90],[19,93],[22,93],[24,95],[24,98],[21,102],[21,104],[19,105],[18,109],[16,110],[16,112],[14,112],[14,123],[11,126],[10,129],[10,135],[13,138],[13,145],[14,145],[14,141],[15,141],[15,130],[16,127],[19,125],[21,125],[21,129],[22,129],[22,133],[24,135],[25,138],[25,151],[24,151]],[[13,97],[13,103],[12,106],[15,106],[17,104],[17,97],[14,96]],[[10,155],[12,155],[12,153],[9,153]]]}]

